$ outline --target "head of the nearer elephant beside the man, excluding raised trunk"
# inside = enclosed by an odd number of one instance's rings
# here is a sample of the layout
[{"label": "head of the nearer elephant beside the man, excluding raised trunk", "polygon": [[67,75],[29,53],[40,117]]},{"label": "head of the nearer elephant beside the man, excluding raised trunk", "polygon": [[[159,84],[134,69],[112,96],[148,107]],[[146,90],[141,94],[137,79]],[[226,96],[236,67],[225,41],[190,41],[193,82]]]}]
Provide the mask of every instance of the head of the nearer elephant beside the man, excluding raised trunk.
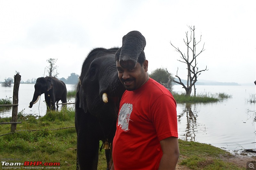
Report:
[{"label": "head of the nearer elephant beside the man, excluding raised trunk", "polygon": [[76,106],[85,113],[99,118],[117,117],[119,101],[125,89],[117,74],[116,50],[118,48],[94,49],[84,61]]}]

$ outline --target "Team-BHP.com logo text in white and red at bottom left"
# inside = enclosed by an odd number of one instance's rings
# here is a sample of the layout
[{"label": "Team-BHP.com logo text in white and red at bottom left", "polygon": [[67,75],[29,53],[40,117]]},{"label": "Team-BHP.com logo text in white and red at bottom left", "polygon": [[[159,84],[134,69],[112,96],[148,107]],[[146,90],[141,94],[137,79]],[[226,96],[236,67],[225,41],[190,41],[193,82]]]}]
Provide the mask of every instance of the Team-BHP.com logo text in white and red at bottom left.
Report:
[{"label": "Team-BHP.com logo text in white and red at bottom left", "polygon": [[[60,167],[56,167],[56,166],[60,166],[60,162],[44,162],[43,163],[42,161],[25,161],[24,163],[1,161],[1,165],[2,165],[2,169],[21,169],[20,166],[23,166],[22,169],[35,169],[35,167],[31,168],[31,166],[39,166],[40,169],[44,169],[44,168],[52,169],[53,167],[54,169],[60,168]],[[10,166],[12,166],[12,168]],[[37,167],[36,169],[39,169],[39,167]]]}]

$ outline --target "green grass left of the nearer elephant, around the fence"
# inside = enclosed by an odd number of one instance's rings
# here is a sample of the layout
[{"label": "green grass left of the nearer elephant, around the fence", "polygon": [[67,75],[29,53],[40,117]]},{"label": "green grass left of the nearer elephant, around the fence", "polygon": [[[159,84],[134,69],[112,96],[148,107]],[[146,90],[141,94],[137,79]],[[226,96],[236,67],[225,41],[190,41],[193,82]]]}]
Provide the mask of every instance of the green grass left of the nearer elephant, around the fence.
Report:
[{"label": "green grass left of the nearer elephant, around the fence", "polygon": [[[0,122],[10,120],[1,118]],[[75,124],[73,110],[49,112],[41,118],[20,113],[18,121],[22,123],[17,124],[16,133],[0,136],[1,158],[18,158],[21,163],[60,162],[61,169],[76,169],[76,130],[70,128]],[[0,135],[9,133],[10,127],[0,125]]]}]

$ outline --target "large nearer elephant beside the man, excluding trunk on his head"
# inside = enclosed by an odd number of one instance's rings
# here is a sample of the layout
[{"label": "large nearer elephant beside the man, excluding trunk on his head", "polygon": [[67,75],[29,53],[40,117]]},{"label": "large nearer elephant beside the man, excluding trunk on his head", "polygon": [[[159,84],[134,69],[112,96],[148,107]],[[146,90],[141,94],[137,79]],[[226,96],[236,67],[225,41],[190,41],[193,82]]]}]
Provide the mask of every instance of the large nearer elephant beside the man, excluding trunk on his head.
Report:
[{"label": "large nearer elephant beside the man, excluding trunk on his head", "polygon": [[125,91],[116,69],[118,48],[93,49],[84,60],[76,93],[77,159],[80,169],[97,169],[99,142],[106,143],[107,169],[119,103]]}]

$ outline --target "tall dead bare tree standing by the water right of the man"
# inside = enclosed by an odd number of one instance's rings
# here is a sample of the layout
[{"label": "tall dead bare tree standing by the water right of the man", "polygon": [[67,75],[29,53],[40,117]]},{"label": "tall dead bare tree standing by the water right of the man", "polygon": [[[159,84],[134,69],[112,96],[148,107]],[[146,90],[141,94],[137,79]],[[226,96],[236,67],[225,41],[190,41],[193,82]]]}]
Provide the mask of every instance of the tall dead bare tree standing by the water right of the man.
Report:
[{"label": "tall dead bare tree standing by the water right of the man", "polygon": [[[207,66],[204,70],[199,70],[197,67],[197,62],[196,62],[196,57],[198,57],[199,54],[201,54],[204,51],[204,45],[202,50],[196,54],[196,45],[198,45],[198,43],[201,42],[201,38],[202,35],[200,36],[200,40],[198,42],[196,42],[196,37],[195,37],[195,26],[188,26],[190,29],[190,35],[188,34],[188,32],[186,32],[186,40],[183,39],[184,43],[187,46],[187,55],[185,53],[182,53],[181,50],[178,47],[175,47],[172,42],[171,45],[175,48],[175,50],[177,52],[180,53],[180,58],[182,60],[179,60],[182,63],[186,63],[187,64],[187,70],[188,70],[188,75],[187,75],[187,86],[185,86],[185,84],[181,81],[180,77],[178,76],[178,70],[177,69],[177,73],[175,75],[175,77],[177,77],[179,79],[179,81],[175,81],[173,80],[175,83],[178,83],[180,85],[183,86],[183,88],[186,90],[186,95],[190,96],[191,91],[192,91],[192,86],[194,86],[194,95],[196,95],[196,87],[195,87],[195,83],[197,81],[198,76],[201,74],[201,72],[208,70]],[[192,55],[192,58],[190,58],[190,54]]]}]

